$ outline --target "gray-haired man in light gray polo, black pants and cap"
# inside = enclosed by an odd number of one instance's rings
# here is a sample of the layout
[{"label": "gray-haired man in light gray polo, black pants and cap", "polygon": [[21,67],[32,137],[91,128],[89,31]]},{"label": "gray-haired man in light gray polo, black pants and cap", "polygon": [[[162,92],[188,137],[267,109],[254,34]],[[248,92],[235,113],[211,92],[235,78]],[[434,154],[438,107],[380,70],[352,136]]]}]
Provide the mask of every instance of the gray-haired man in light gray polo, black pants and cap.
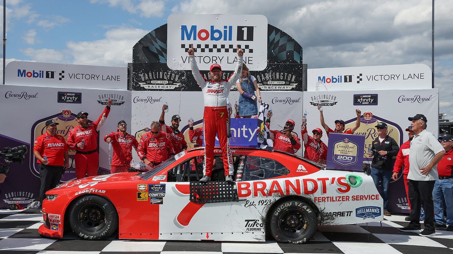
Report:
[{"label": "gray-haired man in light gray polo, black pants and cap", "polygon": [[[434,236],[433,188],[438,180],[437,163],[445,150],[433,133],[426,131],[428,120],[422,114],[416,114],[411,121],[414,138],[410,142],[409,152],[409,200],[412,206],[409,225],[400,228],[403,232],[420,233],[421,236]],[[425,211],[424,230],[420,228],[420,209]]]}]

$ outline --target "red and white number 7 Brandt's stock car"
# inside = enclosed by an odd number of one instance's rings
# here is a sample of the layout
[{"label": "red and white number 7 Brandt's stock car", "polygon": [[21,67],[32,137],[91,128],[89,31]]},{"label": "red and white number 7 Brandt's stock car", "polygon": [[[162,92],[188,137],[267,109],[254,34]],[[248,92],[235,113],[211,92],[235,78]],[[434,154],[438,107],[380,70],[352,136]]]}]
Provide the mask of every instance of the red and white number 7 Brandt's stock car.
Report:
[{"label": "red and white number 7 Brandt's stock car", "polygon": [[[77,179],[46,192],[39,234],[119,239],[304,243],[320,225],[383,220],[383,201],[364,172],[326,169],[296,155],[231,148],[235,182],[215,168],[202,177],[204,149],[182,151],[154,169]],[[215,158],[222,152],[216,148]],[[221,163],[219,163],[221,165]]]}]

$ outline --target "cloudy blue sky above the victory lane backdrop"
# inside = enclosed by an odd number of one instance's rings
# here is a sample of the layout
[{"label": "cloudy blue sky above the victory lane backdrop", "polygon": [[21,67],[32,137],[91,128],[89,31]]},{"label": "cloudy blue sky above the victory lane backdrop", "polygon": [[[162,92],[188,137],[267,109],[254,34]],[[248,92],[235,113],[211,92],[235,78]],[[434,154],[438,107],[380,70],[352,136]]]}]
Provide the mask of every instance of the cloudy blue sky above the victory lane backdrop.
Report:
[{"label": "cloudy blue sky above the victory lane backdrop", "polygon": [[[431,0],[6,0],[5,55],[6,63],[127,66],[134,44],[169,14],[263,14],[299,42],[308,68],[431,68],[431,6]],[[447,119],[453,119],[452,13],[453,0],[435,1],[434,85]]]}]

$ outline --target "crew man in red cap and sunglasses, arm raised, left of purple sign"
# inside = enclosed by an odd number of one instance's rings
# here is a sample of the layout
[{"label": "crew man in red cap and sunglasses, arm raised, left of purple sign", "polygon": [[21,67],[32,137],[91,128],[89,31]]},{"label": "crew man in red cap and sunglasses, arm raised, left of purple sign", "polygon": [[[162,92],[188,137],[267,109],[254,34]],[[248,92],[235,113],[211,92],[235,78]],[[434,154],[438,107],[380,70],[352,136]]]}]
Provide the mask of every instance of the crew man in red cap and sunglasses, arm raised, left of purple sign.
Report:
[{"label": "crew man in red cap and sunglasses, arm raised, left of purple sign", "polygon": [[321,140],[323,137],[323,131],[321,128],[313,129],[313,137],[308,135],[307,119],[302,117],[302,126],[300,129],[300,135],[302,136],[302,141],[304,142],[305,147],[304,158],[317,163],[326,164],[327,146]]}]

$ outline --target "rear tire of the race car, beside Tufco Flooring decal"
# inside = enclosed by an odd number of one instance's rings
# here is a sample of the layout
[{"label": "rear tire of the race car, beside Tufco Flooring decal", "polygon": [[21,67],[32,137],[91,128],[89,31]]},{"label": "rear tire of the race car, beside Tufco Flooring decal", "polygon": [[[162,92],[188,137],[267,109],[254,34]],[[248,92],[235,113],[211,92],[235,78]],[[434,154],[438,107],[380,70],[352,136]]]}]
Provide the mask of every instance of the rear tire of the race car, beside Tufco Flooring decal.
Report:
[{"label": "rear tire of the race car, beside Tufco Flooring decal", "polygon": [[302,244],[318,228],[318,215],[307,203],[296,199],[277,202],[269,215],[270,235],[279,243]]}]

